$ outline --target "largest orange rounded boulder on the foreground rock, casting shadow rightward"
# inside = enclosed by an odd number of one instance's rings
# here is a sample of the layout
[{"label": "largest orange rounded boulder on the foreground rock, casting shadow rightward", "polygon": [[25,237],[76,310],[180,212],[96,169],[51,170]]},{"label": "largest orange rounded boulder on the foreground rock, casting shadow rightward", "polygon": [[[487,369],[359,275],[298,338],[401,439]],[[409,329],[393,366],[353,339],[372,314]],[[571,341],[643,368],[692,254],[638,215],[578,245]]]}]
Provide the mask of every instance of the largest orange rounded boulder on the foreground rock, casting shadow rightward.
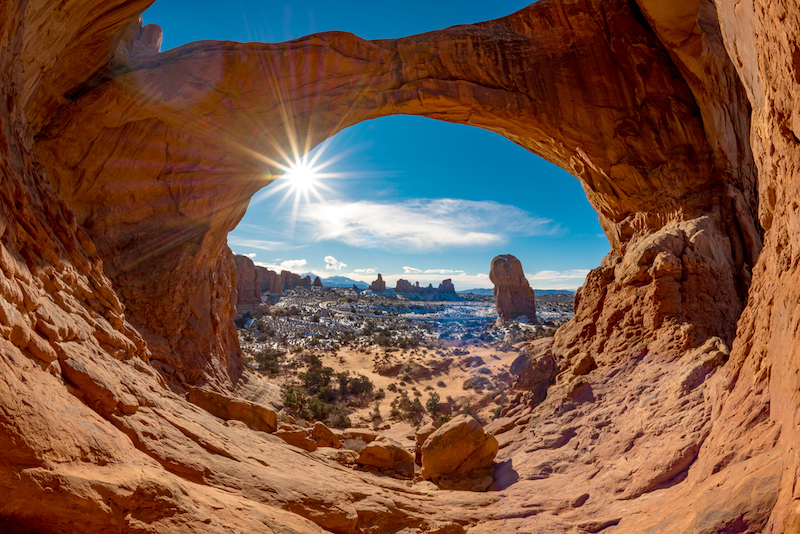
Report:
[{"label": "largest orange rounded boulder on the foreground rock, casting shadow rightward", "polygon": [[422,445],[422,477],[463,475],[491,465],[498,443],[469,415],[443,424]]}]

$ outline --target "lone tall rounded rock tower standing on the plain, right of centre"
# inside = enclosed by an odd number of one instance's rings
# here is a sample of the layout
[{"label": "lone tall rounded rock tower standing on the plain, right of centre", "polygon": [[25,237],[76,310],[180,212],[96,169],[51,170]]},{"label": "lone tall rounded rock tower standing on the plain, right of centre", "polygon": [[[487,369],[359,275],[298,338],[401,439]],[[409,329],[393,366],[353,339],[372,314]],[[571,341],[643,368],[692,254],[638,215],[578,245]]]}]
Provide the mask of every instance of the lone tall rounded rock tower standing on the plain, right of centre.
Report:
[{"label": "lone tall rounded rock tower standing on the plain, right of centre", "polygon": [[489,279],[494,284],[497,297],[497,323],[525,316],[528,322],[537,323],[536,299],[525,278],[520,261],[511,254],[501,254],[492,260]]}]

